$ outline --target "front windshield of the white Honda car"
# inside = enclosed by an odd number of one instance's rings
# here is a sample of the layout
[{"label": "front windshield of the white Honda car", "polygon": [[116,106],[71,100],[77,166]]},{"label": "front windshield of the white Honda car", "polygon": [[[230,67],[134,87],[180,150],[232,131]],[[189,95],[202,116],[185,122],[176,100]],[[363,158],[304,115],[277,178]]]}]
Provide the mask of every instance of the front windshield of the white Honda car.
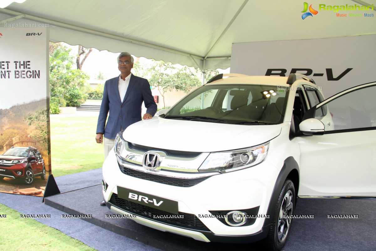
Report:
[{"label": "front windshield of the white Honda car", "polygon": [[272,85],[204,85],[185,96],[166,119],[242,125],[283,121],[288,88]]}]

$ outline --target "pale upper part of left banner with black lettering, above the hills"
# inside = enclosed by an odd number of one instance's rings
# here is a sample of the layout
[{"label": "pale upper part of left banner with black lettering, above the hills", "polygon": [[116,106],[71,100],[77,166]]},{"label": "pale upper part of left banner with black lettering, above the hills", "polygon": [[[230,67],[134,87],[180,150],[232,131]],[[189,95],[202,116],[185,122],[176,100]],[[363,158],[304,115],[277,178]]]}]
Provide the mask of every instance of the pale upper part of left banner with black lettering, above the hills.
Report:
[{"label": "pale upper part of left banner with black lettering, above the hills", "polygon": [[47,28],[1,28],[0,109],[45,99]]}]

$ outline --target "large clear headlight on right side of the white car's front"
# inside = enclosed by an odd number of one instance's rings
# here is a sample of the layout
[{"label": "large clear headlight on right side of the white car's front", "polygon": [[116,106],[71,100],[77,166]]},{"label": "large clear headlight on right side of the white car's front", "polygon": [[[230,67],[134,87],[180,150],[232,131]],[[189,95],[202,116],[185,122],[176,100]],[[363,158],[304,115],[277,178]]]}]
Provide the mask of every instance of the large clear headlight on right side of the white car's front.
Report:
[{"label": "large clear headlight on right side of the white car's front", "polygon": [[220,171],[222,173],[255,166],[265,160],[269,142],[252,148],[228,152],[212,152],[199,168],[200,172]]}]

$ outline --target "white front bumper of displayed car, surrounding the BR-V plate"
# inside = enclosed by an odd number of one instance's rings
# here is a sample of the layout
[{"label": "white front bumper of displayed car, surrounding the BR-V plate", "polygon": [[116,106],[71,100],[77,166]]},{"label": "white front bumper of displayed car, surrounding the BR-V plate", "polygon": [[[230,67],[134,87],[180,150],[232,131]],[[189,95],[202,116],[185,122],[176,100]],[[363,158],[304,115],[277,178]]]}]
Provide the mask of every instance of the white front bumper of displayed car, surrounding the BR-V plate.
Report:
[{"label": "white front bumper of displayed car, surrounding the BR-V plate", "polygon": [[[252,224],[232,227],[218,218],[199,216],[212,215],[213,211],[250,208],[257,208],[256,215],[266,216],[277,173],[276,167],[264,161],[248,169],[211,176],[191,187],[177,187],[124,174],[111,151],[103,164],[103,178],[108,184],[106,192],[103,191],[103,198],[114,213],[135,214],[136,218],[132,220],[158,230],[204,242],[254,242],[267,235],[267,222],[270,221],[265,221],[265,217],[256,218]],[[153,219],[155,214],[170,213],[155,212],[153,209],[149,212],[144,205],[135,209],[120,203],[115,198],[118,186],[177,201],[179,215],[184,215],[184,220]],[[147,213],[142,213],[145,210]]]}]

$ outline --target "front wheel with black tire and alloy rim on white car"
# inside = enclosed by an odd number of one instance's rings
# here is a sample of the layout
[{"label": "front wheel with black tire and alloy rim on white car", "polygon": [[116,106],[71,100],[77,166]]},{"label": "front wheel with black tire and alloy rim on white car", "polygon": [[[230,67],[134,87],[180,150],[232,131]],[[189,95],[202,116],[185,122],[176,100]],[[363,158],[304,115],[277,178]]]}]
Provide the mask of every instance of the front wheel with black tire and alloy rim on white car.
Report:
[{"label": "front wheel with black tire and alloy rim on white car", "polygon": [[292,218],[285,217],[294,215],[295,187],[291,180],[286,180],[279,194],[274,209],[273,219],[267,236],[268,250],[281,250],[287,240],[291,229]]}]

